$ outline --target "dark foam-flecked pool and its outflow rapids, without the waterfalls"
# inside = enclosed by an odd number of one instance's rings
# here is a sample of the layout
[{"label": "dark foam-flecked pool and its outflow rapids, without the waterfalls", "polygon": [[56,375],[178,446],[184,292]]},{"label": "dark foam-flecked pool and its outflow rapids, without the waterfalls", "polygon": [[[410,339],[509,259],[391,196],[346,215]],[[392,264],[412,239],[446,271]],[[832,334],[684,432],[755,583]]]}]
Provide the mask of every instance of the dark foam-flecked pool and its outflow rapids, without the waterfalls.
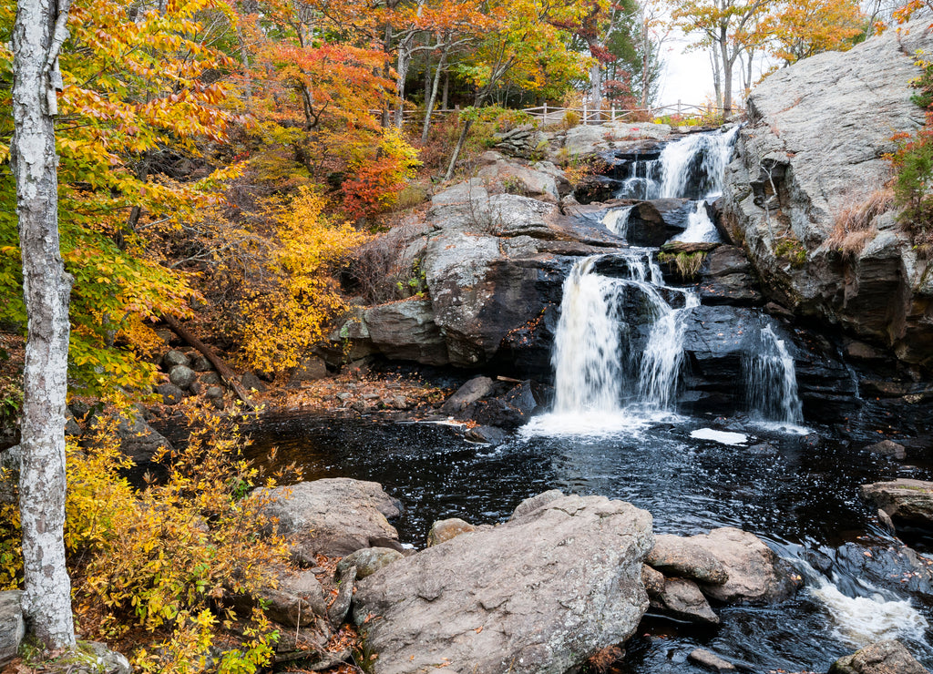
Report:
[{"label": "dark foam-flecked pool and its outflow rapids, without the waterfalls", "polygon": [[[279,461],[299,463],[305,479],[380,482],[405,508],[395,522],[401,540],[416,547],[424,546],[436,519],[494,524],[522,499],[558,488],[633,502],[654,516],[657,533],[687,535],[720,526],[752,531],[801,575],[813,576],[797,597],[780,604],[719,609],[722,624],[713,629],[649,617],[618,671],[702,671],[685,662],[697,646],[753,671],[826,671],[857,646],[889,637],[933,665],[933,635],[926,627],[933,623],[933,598],[906,590],[902,570],[880,560],[879,551],[897,548],[897,542],[857,495],[869,481],[928,479],[928,466],[903,466],[820,433],[769,432],[750,420],[743,425],[670,417],[634,421],[632,427],[603,435],[517,437],[491,448],[467,443],[455,428],[438,424],[304,417],[264,424],[252,453],[261,462],[274,444]],[[746,439],[727,445],[692,437],[716,435],[696,433],[704,428]],[[869,559],[879,559],[874,575],[898,577],[884,585],[872,577],[870,583],[862,566]]]}]

